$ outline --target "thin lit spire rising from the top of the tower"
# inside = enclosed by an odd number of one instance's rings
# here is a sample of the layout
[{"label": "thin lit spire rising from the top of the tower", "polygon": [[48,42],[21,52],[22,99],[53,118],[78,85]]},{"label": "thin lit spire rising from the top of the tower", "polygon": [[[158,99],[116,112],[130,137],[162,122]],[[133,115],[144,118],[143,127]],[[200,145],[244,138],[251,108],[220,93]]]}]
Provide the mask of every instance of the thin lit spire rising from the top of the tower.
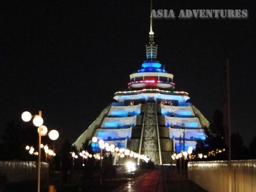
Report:
[{"label": "thin lit spire rising from the top of the tower", "polygon": [[147,60],[156,60],[157,45],[154,44],[154,32],[152,24],[152,0],[150,3],[150,32],[149,32],[149,43],[146,45]]}]

